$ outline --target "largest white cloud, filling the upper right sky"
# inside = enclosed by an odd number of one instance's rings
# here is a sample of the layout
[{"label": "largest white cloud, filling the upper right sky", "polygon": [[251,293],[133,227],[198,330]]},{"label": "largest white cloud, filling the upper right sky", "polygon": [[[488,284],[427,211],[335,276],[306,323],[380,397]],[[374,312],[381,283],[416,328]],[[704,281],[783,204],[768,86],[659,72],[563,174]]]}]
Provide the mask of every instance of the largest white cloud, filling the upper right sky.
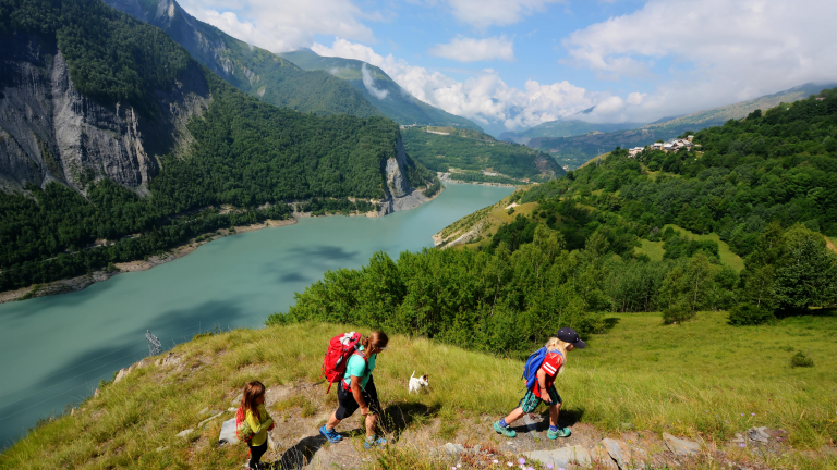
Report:
[{"label": "largest white cloud, filling the upper right sky", "polygon": [[[569,61],[599,78],[653,79],[609,119],[652,121],[837,79],[837,2],[651,0],[569,35]],[[597,110],[598,112],[598,110]],[[604,109],[598,113],[606,119]]]}]

